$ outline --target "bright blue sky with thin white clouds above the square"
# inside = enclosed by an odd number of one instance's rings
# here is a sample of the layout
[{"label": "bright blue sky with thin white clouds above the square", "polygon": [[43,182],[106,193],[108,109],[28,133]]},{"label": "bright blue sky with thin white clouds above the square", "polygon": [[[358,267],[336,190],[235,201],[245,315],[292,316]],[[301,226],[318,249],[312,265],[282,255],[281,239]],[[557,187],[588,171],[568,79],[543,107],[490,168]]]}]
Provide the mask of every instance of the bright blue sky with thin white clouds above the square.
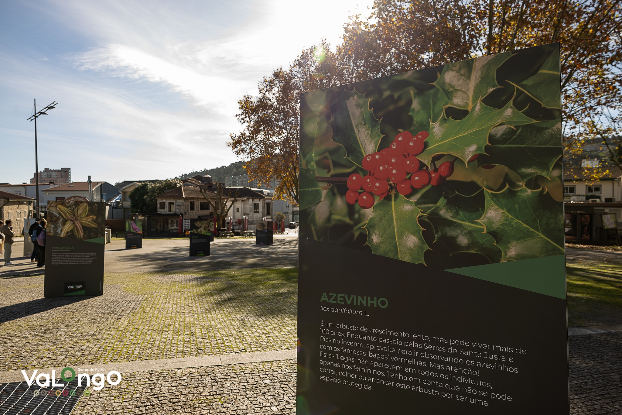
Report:
[{"label": "bright blue sky with thin white clouds above the square", "polygon": [[167,179],[238,161],[237,102],[371,0],[0,3],[0,183]]}]

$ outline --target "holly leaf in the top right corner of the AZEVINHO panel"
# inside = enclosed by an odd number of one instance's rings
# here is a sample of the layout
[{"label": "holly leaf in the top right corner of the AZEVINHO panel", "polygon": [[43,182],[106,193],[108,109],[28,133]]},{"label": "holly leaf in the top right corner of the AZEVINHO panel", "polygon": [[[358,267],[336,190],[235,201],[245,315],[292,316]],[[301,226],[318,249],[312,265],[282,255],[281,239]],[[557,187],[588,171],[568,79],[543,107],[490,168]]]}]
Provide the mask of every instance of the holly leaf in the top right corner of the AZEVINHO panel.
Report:
[{"label": "holly leaf in the top right corner of the AZEVINHO panel", "polygon": [[547,108],[562,108],[562,88],[559,74],[559,47],[556,47],[536,75],[516,85],[521,91]]}]

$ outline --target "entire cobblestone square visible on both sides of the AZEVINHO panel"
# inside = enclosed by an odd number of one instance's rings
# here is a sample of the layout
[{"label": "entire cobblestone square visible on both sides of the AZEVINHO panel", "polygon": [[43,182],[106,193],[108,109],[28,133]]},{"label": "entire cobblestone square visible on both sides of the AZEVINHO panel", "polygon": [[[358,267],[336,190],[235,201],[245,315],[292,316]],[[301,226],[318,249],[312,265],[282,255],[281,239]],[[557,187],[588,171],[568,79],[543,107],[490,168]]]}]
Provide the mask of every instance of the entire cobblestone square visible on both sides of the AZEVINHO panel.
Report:
[{"label": "entire cobblestone square visible on both sides of the AZEVINHO panel", "polygon": [[[0,370],[295,347],[297,269],[214,269],[240,266],[233,243],[240,242],[225,241],[211,263],[171,261],[156,245],[152,262],[146,251],[107,246],[101,297],[42,299],[42,276],[0,274]],[[276,250],[253,251],[246,241],[238,248],[252,251],[254,264],[295,264],[292,241],[283,240],[287,254],[278,262]],[[149,272],[121,271],[137,266]],[[622,413],[622,333],[573,335],[569,356],[570,413]],[[74,413],[295,414],[294,360],[123,376],[83,396]]]}]

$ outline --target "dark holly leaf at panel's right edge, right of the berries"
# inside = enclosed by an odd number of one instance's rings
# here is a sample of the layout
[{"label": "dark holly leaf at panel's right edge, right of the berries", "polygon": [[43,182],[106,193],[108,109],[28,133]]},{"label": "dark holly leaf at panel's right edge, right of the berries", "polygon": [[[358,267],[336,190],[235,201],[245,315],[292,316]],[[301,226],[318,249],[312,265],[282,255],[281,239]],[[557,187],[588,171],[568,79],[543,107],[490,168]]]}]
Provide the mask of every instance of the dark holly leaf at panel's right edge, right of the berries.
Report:
[{"label": "dark holly leaf at panel's right edge, right of the berries", "polygon": [[562,123],[536,123],[493,128],[490,146],[480,156],[480,164],[501,164],[513,170],[523,182],[536,175],[549,177],[555,161],[562,156]]}]

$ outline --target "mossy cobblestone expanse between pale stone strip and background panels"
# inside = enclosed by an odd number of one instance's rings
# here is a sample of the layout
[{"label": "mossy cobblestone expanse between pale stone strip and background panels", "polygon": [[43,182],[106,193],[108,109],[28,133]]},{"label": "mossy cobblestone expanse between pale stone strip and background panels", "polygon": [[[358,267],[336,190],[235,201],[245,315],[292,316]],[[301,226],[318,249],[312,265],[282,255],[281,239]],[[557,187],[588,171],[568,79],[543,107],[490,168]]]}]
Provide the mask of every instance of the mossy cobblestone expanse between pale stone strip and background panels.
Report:
[{"label": "mossy cobblestone expanse between pale stone strip and background panels", "polygon": [[104,295],[42,299],[0,280],[0,370],[295,348],[297,269],[114,273]]}]

